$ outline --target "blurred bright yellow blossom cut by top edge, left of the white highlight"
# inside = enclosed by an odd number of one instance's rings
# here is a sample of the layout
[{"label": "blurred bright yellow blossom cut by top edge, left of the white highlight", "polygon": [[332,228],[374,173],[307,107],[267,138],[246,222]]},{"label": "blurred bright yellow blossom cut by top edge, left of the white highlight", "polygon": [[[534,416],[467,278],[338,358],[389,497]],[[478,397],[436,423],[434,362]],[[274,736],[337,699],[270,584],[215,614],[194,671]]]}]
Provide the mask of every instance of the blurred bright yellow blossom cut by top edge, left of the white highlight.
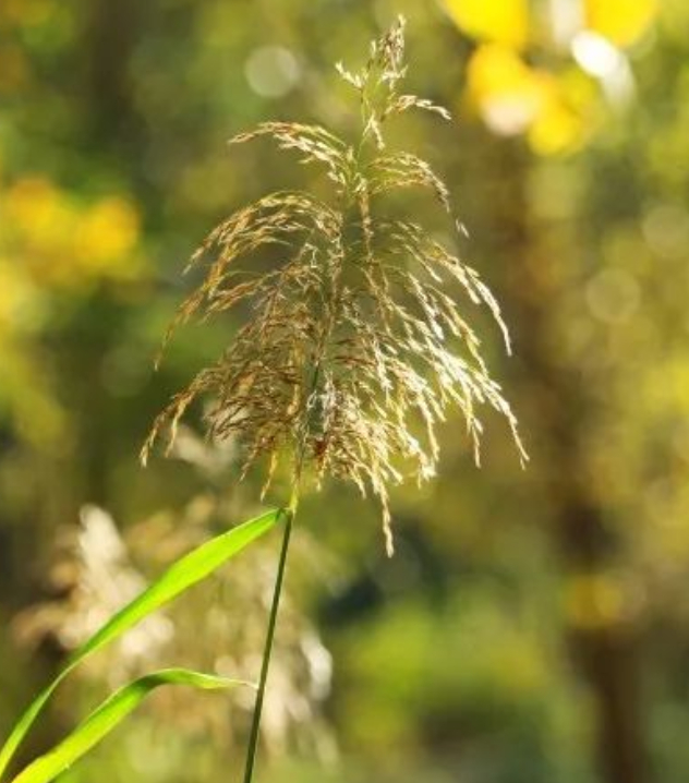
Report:
[{"label": "blurred bright yellow blossom cut by top edge, left of the white highlight", "polygon": [[521,49],[529,38],[528,0],[445,0],[455,24],[479,40]]}]

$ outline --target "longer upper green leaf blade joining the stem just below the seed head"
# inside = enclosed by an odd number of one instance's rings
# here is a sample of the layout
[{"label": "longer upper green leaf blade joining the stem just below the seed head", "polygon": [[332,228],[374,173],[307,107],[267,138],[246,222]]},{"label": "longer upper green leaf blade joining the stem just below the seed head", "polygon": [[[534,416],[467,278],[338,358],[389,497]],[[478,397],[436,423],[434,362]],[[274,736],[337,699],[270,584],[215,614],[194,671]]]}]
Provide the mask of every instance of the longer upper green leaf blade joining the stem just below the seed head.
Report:
[{"label": "longer upper green leaf blade joining the stem just below the seed head", "polygon": [[0,749],[0,780],[31,725],[52,692],[70,672],[86,658],[93,655],[94,652],[117,639],[141,619],[172,601],[181,592],[207,577],[230,557],[241,552],[247,544],[273,528],[280,518],[280,514],[281,511],[276,509],[251,519],[226,533],[217,535],[181,557],[159,579],[124,609],[114,614],[100,630],[96,631],[88,641],[76,650],[62,672],[29,704],[12,730],[2,749]]}]

